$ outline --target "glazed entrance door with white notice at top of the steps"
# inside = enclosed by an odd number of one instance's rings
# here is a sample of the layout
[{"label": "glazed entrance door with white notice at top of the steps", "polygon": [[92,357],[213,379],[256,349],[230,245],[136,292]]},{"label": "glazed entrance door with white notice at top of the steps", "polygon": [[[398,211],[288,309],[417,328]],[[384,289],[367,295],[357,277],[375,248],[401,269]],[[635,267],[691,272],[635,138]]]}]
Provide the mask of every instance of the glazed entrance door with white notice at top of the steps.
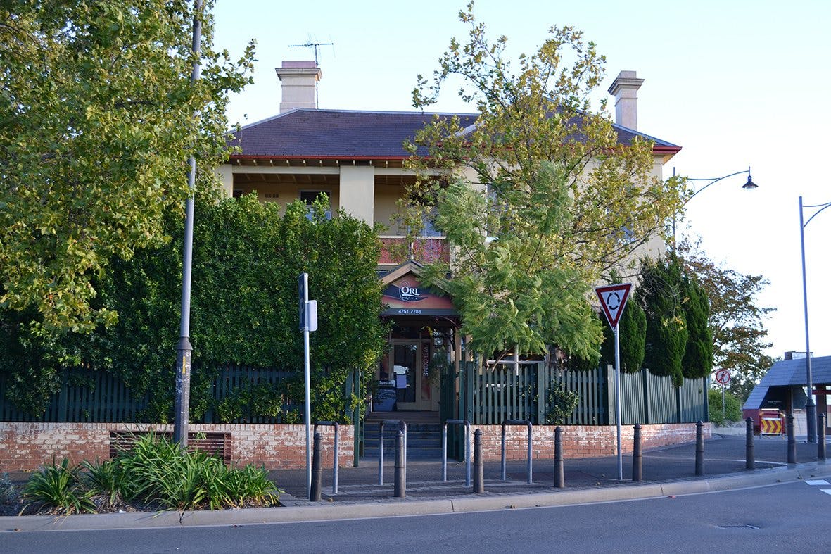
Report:
[{"label": "glazed entrance door with white notice at top of the steps", "polygon": [[438,390],[427,378],[430,342],[391,341],[387,368],[396,386],[396,407],[400,410],[438,409]]}]

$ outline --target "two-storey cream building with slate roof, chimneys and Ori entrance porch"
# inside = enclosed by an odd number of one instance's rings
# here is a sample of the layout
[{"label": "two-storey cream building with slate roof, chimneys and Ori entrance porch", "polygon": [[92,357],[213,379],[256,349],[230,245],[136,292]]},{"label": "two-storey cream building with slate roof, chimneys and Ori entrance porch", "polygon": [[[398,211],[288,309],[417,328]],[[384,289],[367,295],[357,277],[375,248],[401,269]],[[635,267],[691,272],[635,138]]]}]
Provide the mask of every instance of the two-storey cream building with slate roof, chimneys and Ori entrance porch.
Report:
[{"label": "two-storey cream building with slate roof, chimneys and Ori entrance porch", "polygon": [[[297,199],[311,203],[324,194],[332,213],[345,210],[386,229],[378,270],[387,285],[383,314],[393,319],[393,327],[389,353],[376,370],[381,383],[376,408],[435,411],[439,390],[430,360],[437,353],[460,359],[458,315],[450,299],[420,286],[417,264],[409,260],[446,260],[450,253],[429,227],[406,244],[405,230],[394,217],[397,200],[416,178],[404,168],[410,155],[402,145],[435,114],[319,109],[316,87],[322,72],[315,62],[283,62],[277,75],[283,92],[280,113],[234,133],[241,151],[219,168],[224,190],[234,196],[256,191],[259,200],[280,205]],[[641,83],[635,72],[621,72],[609,89],[616,101],[619,141],[645,136],[637,131]],[[463,125],[476,119],[475,114],[445,115],[460,116]],[[662,166],[681,148],[648,138],[654,142],[653,174],[660,178]],[[647,250],[663,246],[656,239]]]}]

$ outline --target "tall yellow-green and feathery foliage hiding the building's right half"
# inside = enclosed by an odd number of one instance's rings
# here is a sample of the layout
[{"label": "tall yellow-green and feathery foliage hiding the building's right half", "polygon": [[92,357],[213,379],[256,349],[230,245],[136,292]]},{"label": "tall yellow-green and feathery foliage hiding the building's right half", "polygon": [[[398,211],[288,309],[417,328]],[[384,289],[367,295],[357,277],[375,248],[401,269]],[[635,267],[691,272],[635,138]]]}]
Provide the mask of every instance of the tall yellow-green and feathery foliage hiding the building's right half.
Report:
[{"label": "tall yellow-green and feathery foliage hiding the building's right half", "polygon": [[489,41],[472,2],[460,20],[468,42],[453,39],[432,83],[420,77],[414,91],[425,107],[461,82],[479,114],[472,126],[436,117],[407,145],[419,178],[405,223],[418,229],[430,217],[455,253],[425,279],[453,296],[475,352],[556,344],[596,362],[590,287],[662,231],[681,182],[652,176],[651,143],[619,144],[603,106],[593,109],[605,60],[580,32],[552,27],[514,71],[507,39]]}]

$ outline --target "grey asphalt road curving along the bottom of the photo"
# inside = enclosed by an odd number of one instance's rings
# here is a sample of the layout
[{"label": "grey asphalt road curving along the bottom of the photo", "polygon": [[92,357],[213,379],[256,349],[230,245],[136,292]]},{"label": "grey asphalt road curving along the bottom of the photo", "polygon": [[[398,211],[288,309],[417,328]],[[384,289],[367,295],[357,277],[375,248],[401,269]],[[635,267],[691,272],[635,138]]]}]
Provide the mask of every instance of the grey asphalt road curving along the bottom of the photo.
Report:
[{"label": "grey asphalt road curving along the bottom of the photo", "polygon": [[440,516],[0,534],[3,552],[829,552],[831,484]]}]

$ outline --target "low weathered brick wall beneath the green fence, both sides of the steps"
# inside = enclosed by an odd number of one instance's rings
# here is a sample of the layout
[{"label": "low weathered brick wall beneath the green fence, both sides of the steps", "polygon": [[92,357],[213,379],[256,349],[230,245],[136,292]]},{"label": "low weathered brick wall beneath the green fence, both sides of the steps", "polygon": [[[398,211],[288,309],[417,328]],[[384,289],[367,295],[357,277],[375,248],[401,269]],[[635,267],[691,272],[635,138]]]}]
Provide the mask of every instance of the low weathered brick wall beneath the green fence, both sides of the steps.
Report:
[{"label": "low weathered brick wall beneath the green fence, both sides of the steps", "polygon": [[[475,425],[482,429],[483,458],[501,458],[502,428],[499,425]],[[534,427],[534,458],[553,458],[554,426]],[[111,431],[142,432],[154,429],[172,432],[172,425],[135,423],[0,423],[0,471],[30,470],[64,456],[71,462],[106,459],[110,455]],[[306,427],[304,425],[206,424],[189,425],[192,433],[231,433],[231,455],[234,464],[254,463],[268,469],[290,469],[306,465]],[[334,430],[322,427],[323,467],[332,467]],[[615,427],[563,426],[565,458],[597,458],[617,454]],[[624,453],[632,452],[631,425],[622,427]],[[711,438],[710,423],[704,426],[704,437]],[[525,459],[528,429],[507,428],[505,450],[509,460]],[[642,426],[643,448],[696,440],[695,423],[667,423]],[[472,438],[471,438],[472,442]],[[339,436],[340,466],[352,465],[354,452],[352,426],[342,425]]]}]

